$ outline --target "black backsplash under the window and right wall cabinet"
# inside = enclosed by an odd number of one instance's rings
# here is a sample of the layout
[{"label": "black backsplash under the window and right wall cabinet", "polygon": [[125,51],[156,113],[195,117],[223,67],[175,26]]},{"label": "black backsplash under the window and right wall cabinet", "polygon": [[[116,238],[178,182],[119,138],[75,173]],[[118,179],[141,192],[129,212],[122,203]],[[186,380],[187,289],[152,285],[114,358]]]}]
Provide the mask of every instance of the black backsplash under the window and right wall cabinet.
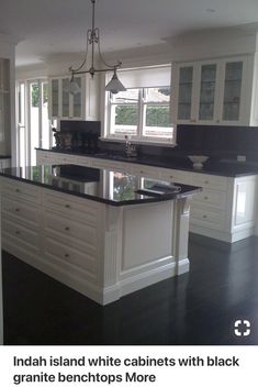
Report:
[{"label": "black backsplash under the window and right wall cabinet", "polygon": [[[125,152],[125,142],[100,142],[108,152]],[[178,125],[177,146],[137,145],[138,155],[162,158],[186,157],[191,154],[210,158],[233,158],[246,155],[247,161],[258,162],[258,128]]]}]

